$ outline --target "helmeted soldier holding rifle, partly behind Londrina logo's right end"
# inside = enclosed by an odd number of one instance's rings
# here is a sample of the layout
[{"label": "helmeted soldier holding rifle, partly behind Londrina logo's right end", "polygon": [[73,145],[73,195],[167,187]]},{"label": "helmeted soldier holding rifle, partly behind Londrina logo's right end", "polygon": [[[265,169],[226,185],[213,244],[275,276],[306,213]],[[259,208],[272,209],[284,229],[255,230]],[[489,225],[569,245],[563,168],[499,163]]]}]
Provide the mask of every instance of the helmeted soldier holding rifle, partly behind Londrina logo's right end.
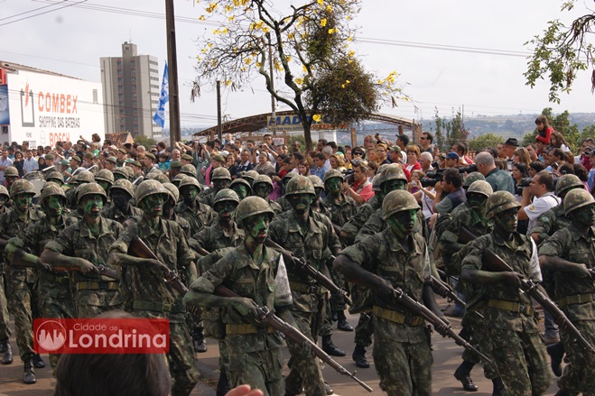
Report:
[{"label": "helmeted soldier holding rifle, partly behind Londrina logo's right end", "polygon": [[[132,310],[143,318],[167,318],[170,321],[170,352],[167,359],[172,375],[172,395],[189,395],[199,380],[191,354],[191,336],[184,320],[182,296],[163,281],[163,270],[196,278],[194,255],[183,237],[181,227],[163,219],[163,202],[169,193],[157,180],[144,180],[136,189],[135,200],[143,210],[140,220],[127,226],[109,248],[108,263],[126,265],[132,277]],[[128,246],[134,236],[147,244],[159,261],[134,257]],[[148,263],[150,262],[150,264]]]}]

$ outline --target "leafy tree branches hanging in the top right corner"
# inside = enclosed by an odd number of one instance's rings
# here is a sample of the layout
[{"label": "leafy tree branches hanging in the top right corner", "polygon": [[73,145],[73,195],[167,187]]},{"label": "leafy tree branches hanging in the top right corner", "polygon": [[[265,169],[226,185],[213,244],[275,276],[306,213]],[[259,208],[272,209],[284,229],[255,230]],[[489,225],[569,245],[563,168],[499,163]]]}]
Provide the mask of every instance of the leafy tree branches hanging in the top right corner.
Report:
[{"label": "leafy tree branches hanging in the top right corner", "polygon": [[[576,0],[564,0],[562,11],[574,8]],[[595,25],[595,14],[582,15],[570,26],[559,19],[548,22],[548,27],[541,36],[536,35],[525,45],[534,47],[533,55],[527,62],[524,73],[526,84],[535,87],[538,79],[548,75],[550,84],[550,102],[560,103],[560,94],[569,93],[577,72],[592,68],[593,45],[589,42],[590,33]],[[595,89],[595,69],[591,76],[591,93]]]}]

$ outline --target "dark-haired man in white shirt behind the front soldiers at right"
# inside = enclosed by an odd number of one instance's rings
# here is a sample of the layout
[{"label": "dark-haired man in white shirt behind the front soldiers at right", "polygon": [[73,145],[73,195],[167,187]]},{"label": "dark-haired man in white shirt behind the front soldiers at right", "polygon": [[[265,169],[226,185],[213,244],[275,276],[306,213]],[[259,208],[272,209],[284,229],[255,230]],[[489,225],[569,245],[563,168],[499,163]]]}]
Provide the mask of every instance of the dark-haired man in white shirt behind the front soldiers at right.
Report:
[{"label": "dark-haired man in white shirt behind the front soldiers at right", "polygon": [[553,194],[553,177],[547,170],[537,173],[528,188],[523,189],[521,208],[518,209],[519,220],[529,220],[527,229],[533,228],[537,217],[560,204],[560,198]]}]

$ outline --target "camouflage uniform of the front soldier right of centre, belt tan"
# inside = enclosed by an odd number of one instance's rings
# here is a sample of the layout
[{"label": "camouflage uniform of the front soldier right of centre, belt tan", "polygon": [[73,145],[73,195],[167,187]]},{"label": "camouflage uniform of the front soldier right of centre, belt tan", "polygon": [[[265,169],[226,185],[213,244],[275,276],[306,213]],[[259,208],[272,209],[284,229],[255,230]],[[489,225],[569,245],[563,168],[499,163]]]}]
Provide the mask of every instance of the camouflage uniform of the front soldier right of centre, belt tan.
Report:
[{"label": "camouflage uniform of the front soldier right of centre, belt tan", "polygon": [[[392,228],[370,235],[340,254],[357,262],[410,297],[422,301],[423,283],[430,278],[430,259],[423,236],[412,235],[412,250],[404,252]],[[432,352],[423,319],[373,293],[374,363],[380,388],[388,395],[432,394]],[[388,319],[404,318],[401,323]]]}]

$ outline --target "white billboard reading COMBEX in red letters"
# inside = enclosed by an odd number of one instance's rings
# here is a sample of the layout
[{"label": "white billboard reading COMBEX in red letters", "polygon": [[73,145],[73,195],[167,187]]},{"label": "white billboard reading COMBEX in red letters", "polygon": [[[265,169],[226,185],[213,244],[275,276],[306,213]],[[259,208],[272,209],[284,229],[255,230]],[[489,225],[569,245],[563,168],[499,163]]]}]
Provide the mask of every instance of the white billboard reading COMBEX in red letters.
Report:
[{"label": "white billboard reading COMBEX in red letters", "polygon": [[23,70],[6,79],[10,126],[0,143],[27,141],[33,148],[76,142],[81,135],[105,139],[101,83]]}]

